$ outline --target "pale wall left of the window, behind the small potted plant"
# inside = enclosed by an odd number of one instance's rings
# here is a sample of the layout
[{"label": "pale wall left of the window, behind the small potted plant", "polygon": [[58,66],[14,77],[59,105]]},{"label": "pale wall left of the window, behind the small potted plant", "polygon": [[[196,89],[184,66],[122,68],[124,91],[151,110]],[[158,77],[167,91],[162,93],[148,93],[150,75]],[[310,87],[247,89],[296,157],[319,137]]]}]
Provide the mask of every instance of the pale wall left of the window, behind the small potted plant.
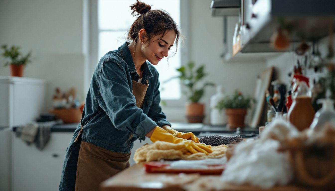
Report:
[{"label": "pale wall left of the window, behind the small potted plant", "polygon": [[[0,45],[32,51],[25,77],[48,82],[46,110],[55,88],[75,87],[83,100],[83,1],[0,0]],[[3,51],[1,50],[1,53]],[[0,58],[0,76],[9,76]]]}]

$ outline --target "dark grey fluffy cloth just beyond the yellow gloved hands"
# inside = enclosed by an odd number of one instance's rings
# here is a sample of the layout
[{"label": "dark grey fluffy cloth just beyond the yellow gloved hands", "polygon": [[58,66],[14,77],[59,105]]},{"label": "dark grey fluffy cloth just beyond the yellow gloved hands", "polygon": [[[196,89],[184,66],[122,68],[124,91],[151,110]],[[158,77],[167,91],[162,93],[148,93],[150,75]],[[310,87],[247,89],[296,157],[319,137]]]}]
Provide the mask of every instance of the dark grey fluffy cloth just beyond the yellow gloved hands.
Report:
[{"label": "dark grey fluffy cloth just beyond the yellow gloved hands", "polygon": [[211,146],[228,145],[243,140],[241,135],[235,136],[222,136],[222,135],[211,135],[199,138],[199,141]]}]

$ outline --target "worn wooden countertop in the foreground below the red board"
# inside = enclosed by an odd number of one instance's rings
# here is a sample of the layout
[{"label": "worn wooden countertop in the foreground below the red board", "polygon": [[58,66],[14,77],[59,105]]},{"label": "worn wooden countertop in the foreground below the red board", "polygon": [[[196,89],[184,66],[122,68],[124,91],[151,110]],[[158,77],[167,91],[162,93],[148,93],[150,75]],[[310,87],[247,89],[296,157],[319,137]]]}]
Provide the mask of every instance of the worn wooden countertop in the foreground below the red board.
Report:
[{"label": "worn wooden countertop in the foreground below the red board", "polygon": [[[102,191],[185,191],[178,183],[206,190],[211,187],[222,191],[311,191],[312,189],[297,187],[293,185],[278,186],[271,189],[261,189],[248,185],[232,185],[221,182],[220,175],[198,175],[198,174],[166,174],[166,173],[146,173],[143,168],[144,163],[139,163],[120,172],[104,181],[100,190]],[[201,189],[204,188],[204,189]]]}]

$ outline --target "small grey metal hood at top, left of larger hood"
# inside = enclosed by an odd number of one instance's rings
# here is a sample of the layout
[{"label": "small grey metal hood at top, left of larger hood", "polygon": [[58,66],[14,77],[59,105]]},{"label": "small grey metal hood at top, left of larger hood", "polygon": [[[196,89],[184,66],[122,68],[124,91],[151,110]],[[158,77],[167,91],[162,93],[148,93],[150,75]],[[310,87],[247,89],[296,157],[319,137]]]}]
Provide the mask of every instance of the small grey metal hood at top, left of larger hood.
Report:
[{"label": "small grey metal hood at top, left of larger hood", "polygon": [[212,16],[238,16],[240,7],[240,0],[213,0],[210,5]]}]

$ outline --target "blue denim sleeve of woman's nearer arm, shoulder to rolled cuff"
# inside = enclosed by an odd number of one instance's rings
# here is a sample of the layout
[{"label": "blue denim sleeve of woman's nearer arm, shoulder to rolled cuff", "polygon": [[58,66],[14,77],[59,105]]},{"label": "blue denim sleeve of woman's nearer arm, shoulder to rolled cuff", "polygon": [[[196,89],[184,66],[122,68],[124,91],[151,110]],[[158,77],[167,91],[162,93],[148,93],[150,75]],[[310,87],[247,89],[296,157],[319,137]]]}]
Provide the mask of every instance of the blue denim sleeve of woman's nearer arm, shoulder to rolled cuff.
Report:
[{"label": "blue denim sleeve of woman's nearer arm, shoulder to rolled cuff", "polygon": [[144,140],[145,135],[157,124],[136,107],[135,96],[128,84],[125,69],[120,63],[103,63],[98,76],[101,99],[99,105],[105,110],[115,128],[129,131],[134,137]]}]

